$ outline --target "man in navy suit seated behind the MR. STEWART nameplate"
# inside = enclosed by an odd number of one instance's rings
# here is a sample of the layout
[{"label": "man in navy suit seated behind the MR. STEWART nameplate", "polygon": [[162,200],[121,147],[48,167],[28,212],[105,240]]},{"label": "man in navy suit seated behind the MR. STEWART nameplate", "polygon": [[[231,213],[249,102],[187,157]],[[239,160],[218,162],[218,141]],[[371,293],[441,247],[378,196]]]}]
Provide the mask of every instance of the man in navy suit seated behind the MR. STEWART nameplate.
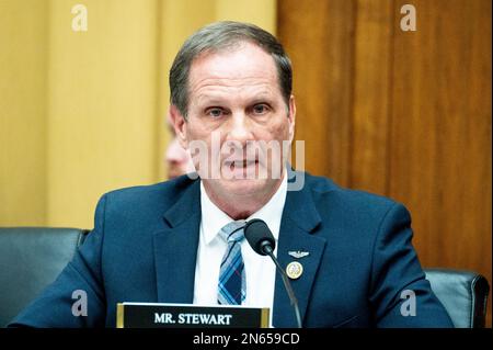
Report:
[{"label": "man in navy suit seated behind the MR. STEWART nameplate", "polygon": [[[194,156],[198,178],[103,195],[73,260],[12,325],[114,327],[117,303],[160,302],[271,307],[274,327],[295,327],[274,264],[242,239],[244,222],[261,218],[280,264],[296,262],[303,327],[451,326],[401,204],[284,167],[296,106],[290,61],[274,36],[210,24],[179,52],[170,86],[180,143],[205,145]],[[250,151],[262,142],[282,146]],[[76,290],[88,295],[85,316],[71,312]]]}]

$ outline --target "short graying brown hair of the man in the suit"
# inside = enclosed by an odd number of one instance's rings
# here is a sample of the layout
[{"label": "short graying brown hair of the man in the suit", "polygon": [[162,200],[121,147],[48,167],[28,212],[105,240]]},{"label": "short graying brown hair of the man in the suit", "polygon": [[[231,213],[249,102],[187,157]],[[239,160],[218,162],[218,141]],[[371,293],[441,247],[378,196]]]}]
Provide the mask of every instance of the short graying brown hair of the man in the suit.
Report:
[{"label": "short graying brown hair of the man in the suit", "polygon": [[293,90],[291,61],[283,45],[261,27],[241,22],[216,22],[190,36],[174,58],[170,69],[171,103],[186,118],[188,108],[188,75],[195,58],[205,53],[217,53],[242,42],[251,42],[272,56],[277,67],[280,92],[289,105]]}]

